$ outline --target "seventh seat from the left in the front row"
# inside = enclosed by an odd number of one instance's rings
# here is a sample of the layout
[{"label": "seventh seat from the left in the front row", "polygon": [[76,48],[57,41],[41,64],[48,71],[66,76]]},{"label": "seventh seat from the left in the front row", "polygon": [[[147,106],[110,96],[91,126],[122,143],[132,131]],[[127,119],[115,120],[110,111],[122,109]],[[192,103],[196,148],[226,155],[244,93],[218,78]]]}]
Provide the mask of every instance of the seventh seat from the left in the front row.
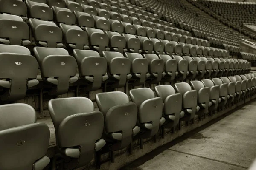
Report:
[{"label": "seventh seat from the left in the front row", "polygon": [[212,106],[212,102],[210,102],[210,88],[204,87],[204,84],[198,80],[190,81],[190,85],[198,93],[197,105],[200,109],[196,114],[199,116],[199,119],[202,119],[202,116],[208,113],[208,108]]}]

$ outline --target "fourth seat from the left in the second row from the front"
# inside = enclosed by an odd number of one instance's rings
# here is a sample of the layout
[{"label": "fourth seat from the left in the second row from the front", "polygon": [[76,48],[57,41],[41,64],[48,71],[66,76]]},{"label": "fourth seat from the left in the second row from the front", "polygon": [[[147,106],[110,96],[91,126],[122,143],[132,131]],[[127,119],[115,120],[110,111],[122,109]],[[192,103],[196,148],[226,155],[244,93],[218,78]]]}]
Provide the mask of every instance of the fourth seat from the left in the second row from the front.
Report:
[{"label": "fourth seat from the left in the second row from the front", "polygon": [[108,63],[108,77],[113,82],[113,88],[121,88],[132,76],[130,74],[131,62],[122,53],[103,51],[103,57]]}]

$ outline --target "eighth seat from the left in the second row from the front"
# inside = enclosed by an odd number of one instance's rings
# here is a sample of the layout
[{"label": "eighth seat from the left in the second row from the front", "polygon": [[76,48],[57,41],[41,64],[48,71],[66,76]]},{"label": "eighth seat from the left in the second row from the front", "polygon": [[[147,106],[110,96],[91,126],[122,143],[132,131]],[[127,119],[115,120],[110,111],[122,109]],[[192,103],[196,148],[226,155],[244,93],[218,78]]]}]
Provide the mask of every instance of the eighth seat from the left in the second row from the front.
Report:
[{"label": "eighth seat from the left in the second row from the front", "polygon": [[178,74],[176,74],[176,79],[179,81],[183,81],[186,79],[188,72],[188,61],[183,59],[181,56],[174,55],[173,58],[178,62],[177,70]]}]

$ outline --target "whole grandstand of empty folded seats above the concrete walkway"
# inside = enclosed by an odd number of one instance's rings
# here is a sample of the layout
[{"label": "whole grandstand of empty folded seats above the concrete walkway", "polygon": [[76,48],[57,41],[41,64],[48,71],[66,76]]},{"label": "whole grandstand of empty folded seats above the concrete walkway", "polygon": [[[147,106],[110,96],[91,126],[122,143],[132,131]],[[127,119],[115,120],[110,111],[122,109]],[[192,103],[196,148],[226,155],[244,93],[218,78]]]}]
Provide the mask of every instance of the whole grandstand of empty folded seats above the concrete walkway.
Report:
[{"label": "whole grandstand of empty folded seats above the concrete walkway", "polygon": [[118,170],[253,102],[254,6],[0,0],[0,170]]}]

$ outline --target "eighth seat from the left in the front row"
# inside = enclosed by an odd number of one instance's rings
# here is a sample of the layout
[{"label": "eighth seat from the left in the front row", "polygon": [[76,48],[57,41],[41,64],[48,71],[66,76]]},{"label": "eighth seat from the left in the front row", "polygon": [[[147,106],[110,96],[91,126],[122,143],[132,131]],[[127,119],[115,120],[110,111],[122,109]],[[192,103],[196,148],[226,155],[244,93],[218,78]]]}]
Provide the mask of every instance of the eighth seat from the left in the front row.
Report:
[{"label": "eighth seat from the left in the front row", "polygon": [[220,98],[220,86],[214,85],[212,80],[210,79],[203,79],[201,82],[204,84],[204,87],[210,88],[210,102],[212,103],[211,106],[209,106],[210,113],[215,113],[218,109],[219,103],[224,103],[224,100]]}]

